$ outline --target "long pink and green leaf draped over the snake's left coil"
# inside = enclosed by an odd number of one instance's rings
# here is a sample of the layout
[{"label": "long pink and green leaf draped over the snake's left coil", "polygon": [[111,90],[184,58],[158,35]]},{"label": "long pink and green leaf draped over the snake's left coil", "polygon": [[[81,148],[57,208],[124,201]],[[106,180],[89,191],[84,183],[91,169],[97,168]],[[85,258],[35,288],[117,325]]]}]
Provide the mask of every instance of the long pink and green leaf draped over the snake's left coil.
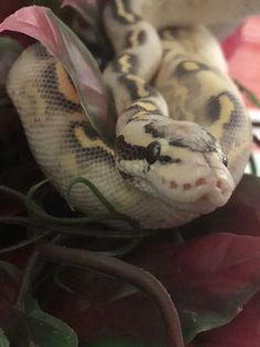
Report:
[{"label": "long pink and green leaf draped over the snake's left coil", "polygon": [[69,28],[50,9],[28,7],[7,18],[0,24],[0,32],[4,30],[35,38],[63,63],[94,128],[111,145],[115,139],[115,119],[109,109],[108,91],[95,60]]}]

